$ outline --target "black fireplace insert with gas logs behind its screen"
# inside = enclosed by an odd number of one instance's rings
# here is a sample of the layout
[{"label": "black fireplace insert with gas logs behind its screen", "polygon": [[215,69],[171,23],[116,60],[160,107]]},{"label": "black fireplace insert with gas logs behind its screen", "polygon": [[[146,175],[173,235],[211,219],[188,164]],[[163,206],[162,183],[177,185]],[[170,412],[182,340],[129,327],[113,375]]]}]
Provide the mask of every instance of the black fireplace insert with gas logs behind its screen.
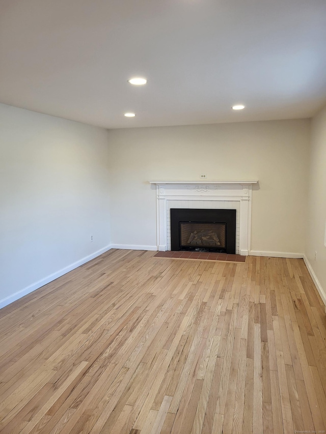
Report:
[{"label": "black fireplace insert with gas logs behind its screen", "polygon": [[171,250],[235,254],[236,210],[171,210]]}]

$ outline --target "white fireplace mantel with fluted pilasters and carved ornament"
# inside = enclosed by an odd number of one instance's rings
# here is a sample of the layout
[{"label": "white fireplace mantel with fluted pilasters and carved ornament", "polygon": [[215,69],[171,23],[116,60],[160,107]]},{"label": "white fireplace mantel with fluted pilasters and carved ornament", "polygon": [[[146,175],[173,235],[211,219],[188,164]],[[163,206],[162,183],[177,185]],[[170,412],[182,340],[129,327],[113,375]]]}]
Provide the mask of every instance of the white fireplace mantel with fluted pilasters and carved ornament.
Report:
[{"label": "white fireplace mantel with fluted pilasters and carved ornament", "polygon": [[156,185],[157,249],[168,250],[168,209],[174,201],[182,201],[186,208],[196,208],[197,201],[205,201],[210,208],[221,209],[219,202],[238,204],[238,251],[250,252],[252,185],[258,180],[228,181],[149,181]]}]

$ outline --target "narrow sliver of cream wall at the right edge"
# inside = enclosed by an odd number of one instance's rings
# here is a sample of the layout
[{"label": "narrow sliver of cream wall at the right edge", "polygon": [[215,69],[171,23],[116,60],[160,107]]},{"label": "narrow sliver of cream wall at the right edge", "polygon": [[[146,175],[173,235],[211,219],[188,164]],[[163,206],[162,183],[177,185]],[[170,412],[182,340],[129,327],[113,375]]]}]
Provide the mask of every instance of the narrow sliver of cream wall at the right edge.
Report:
[{"label": "narrow sliver of cream wall at the right edge", "polygon": [[[312,120],[306,234],[307,266],[326,301],[326,107]],[[315,252],[316,261],[315,261]]]}]

